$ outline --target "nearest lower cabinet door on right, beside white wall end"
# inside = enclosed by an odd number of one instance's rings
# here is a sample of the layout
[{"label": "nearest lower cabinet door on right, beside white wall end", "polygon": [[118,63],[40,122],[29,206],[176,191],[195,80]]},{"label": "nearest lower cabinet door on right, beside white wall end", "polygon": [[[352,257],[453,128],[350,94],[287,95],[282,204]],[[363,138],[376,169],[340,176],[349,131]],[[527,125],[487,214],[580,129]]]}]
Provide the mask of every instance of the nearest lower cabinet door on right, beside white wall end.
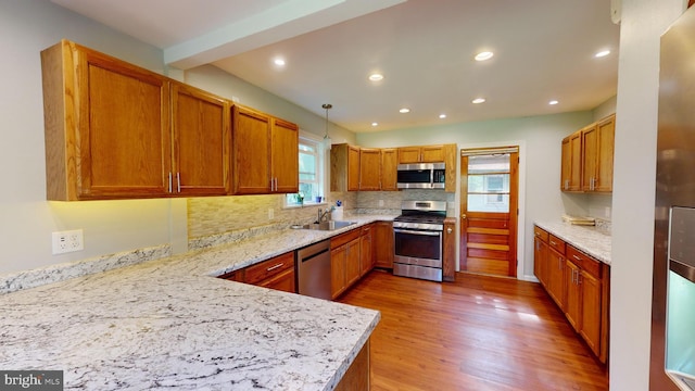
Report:
[{"label": "nearest lower cabinet door on right, beside white wall end", "polygon": [[582,270],[579,277],[581,286],[580,335],[594,354],[601,353],[602,287],[601,280]]}]

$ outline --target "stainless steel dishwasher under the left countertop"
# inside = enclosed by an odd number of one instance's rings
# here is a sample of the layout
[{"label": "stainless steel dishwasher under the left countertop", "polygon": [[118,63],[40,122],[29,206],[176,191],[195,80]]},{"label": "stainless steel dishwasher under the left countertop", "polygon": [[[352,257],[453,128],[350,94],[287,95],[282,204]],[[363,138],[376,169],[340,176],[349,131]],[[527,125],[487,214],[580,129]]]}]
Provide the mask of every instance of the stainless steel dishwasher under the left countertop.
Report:
[{"label": "stainless steel dishwasher under the left countertop", "polygon": [[330,239],[296,250],[300,294],[331,300]]}]

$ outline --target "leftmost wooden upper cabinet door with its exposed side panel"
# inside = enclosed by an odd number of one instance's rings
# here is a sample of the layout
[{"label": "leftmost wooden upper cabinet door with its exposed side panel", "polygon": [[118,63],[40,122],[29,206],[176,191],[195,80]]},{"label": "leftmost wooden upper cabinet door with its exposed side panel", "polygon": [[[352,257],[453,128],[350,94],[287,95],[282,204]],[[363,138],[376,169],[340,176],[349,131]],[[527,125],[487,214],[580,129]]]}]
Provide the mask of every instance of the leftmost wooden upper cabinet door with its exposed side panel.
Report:
[{"label": "leftmost wooden upper cabinet door with its exposed side panel", "polygon": [[41,66],[47,198],[168,195],[168,79],[67,40]]}]

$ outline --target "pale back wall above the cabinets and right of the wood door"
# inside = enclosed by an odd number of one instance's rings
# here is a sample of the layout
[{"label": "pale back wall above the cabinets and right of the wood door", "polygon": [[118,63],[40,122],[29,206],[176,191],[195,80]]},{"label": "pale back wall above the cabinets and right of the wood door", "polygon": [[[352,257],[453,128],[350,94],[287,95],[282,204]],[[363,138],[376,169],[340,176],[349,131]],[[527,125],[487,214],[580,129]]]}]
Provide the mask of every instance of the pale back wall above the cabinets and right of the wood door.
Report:
[{"label": "pale back wall above the cabinets and right of the wood door", "polygon": [[[409,128],[392,131],[357,134],[364,147],[404,147],[437,143],[457,143],[458,148],[508,144],[522,141],[526,146],[526,194],[522,209],[526,232],[532,232],[534,220],[559,220],[565,205],[559,191],[561,141],[567,135],[593,122],[592,113],[577,112],[523,118],[507,118]],[[523,175],[523,173],[520,173]],[[458,189],[456,190],[458,193]],[[459,200],[457,194],[456,200]],[[520,232],[522,234],[522,232]],[[526,236],[522,275],[533,277],[532,235]]]}]

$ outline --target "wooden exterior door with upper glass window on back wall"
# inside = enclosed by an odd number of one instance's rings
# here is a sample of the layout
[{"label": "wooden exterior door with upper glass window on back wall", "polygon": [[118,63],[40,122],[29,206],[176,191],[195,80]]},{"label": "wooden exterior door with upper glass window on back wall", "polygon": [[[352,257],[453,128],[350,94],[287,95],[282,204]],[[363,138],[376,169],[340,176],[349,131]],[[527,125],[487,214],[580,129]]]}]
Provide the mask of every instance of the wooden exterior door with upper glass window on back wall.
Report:
[{"label": "wooden exterior door with upper glass window on back wall", "polygon": [[518,163],[516,148],[462,151],[462,272],[517,276]]}]

